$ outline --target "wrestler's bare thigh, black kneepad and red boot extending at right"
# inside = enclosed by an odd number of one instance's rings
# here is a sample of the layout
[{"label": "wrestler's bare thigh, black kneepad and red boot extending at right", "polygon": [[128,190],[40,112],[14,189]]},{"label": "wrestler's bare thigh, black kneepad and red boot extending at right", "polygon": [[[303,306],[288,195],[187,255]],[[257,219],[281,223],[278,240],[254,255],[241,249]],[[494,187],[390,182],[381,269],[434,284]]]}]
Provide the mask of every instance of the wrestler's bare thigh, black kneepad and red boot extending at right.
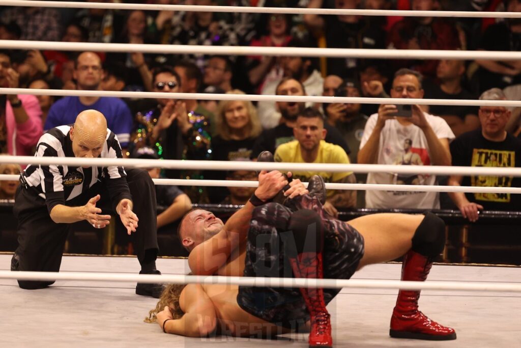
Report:
[{"label": "wrestler's bare thigh, black kneepad and red boot extending at right", "polygon": [[[365,239],[359,268],[405,254],[402,280],[425,281],[444,245],[444,223],[436,215],[375,214],[350,221]],[[384,226],[384,227],[382,227]],[[427,318],[418,310],[420,291],[400,290],[391,318],[390,335],[396,338],[454,340],[453,329]]]}]

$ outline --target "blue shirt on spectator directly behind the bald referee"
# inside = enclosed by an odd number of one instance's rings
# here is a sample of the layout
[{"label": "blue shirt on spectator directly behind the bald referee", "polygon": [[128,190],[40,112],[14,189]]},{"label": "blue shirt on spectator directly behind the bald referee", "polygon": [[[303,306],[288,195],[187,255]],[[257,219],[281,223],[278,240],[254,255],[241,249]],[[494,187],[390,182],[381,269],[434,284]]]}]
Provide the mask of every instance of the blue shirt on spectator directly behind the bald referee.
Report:
[{"label": "blue shirt on spectator directly behind the bald referee", "polygon": [[127,104],[119,98],[101,97],[92,105],[83,105],[79,97],[64,97],[56,101],[49,110],[44,130],[73,124],[78,114],[85,110],[97,110],[107,119],[107,128],[118,137],[122,148],[130,141],[133,117]]}]

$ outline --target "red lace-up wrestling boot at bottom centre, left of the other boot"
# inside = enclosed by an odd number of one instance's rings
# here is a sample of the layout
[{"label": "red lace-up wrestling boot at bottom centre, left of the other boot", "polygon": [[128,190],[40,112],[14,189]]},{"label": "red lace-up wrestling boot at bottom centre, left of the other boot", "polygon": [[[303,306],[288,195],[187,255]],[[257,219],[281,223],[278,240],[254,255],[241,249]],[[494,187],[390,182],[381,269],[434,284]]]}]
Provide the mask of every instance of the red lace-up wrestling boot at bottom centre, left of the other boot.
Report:
[{"label": "red lace-up wrestling boot at bottom centre, left of the other boot", "polygon": [[[307,251],[289,258],[296,278],[324,278],[322,253]],[[300,288],[311,315],[309,347],[332,347],[331,320],[324,302],[324,289]]]}]

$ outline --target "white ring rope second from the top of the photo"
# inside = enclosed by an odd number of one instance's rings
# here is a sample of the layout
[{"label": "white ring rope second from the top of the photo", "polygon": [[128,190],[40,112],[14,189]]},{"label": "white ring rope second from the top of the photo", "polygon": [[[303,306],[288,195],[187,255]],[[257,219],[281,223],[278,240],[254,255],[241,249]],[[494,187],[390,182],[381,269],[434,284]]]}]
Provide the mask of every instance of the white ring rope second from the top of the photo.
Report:
[{"label": "white ring rope second from the top of the photo", "polygon": [[382,58],[382,59],[487,59],[507,61],[521,59],[521,52],[511,51],[451,51],[451,50],[385,50],[385,49],[321,49],[317,47],[253,47],[208,45],[163,45],[138,43],[96,43],[0,40],[3,49],[142,52],[162,54],[208,55],[267,55],[292,57]]}]

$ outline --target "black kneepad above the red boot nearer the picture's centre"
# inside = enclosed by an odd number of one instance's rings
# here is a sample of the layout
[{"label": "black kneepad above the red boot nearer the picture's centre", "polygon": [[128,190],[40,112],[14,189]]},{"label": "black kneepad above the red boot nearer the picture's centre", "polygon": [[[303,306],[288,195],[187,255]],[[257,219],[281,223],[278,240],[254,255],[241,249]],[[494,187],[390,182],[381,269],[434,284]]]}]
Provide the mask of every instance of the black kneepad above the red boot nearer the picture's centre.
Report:
[{"label": "black kneepad above the red boot nearer the picture's centre", "polygon": [[324,228],[320,216],[313,210],[303,209],[291,214],[288,229],[291,231],[294,240],[293,247],[287,245],[291,248],[291,250],[288,250],[290,254],[320,253],[322,251]]}]

